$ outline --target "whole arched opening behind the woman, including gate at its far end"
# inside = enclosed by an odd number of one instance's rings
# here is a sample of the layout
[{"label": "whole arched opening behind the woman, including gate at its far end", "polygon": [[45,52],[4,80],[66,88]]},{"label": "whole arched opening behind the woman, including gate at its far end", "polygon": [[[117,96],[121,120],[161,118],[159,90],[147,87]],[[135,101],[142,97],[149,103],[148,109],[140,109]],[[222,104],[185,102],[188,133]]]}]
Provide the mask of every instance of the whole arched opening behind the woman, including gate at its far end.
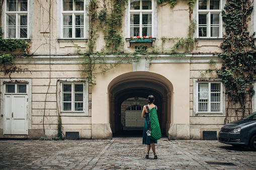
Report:
[{"label": "whole arched opening behind the woman, including gate at its far end", "polygon": [[[172,84],[163,76],[148,72],[132,72],[115,78],[109,85],[110,125],[113,136],[142,136],[144,123],[137,106],[147,104],[148,95],[155,96],[158,120],[163,134],[170,123],[170,90]],[[147,75],[145,75],[147,74]],[[153,75],[152,75],[153,74]],[[129,107],[135,110],[127,111]],[[145,119],[144,119],[145,120]],[[143,125],[142,125],[143,124]]]}]

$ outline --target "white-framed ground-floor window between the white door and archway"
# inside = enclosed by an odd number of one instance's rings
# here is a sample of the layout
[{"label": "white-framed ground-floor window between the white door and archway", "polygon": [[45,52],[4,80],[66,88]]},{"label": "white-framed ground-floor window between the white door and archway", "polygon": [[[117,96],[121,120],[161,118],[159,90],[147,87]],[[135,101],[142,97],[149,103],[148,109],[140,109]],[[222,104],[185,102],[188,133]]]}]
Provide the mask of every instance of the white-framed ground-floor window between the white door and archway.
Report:
[{"label": "white-framed ground-floor window between the white door and archway", "polygon": [[61,83],[61,111],[84,112],[84,83]]}]

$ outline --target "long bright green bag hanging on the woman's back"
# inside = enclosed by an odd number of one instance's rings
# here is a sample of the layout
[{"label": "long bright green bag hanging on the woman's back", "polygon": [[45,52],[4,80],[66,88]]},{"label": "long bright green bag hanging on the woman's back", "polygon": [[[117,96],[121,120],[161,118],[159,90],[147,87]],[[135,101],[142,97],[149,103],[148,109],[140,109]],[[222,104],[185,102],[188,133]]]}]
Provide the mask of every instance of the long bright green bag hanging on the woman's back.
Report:
[{"label": "long bright green bag hanging on the woman's back", "polygon": [[149,129],[150,129],[149,137],[152,140],[158,140],[162,137],[162,133],[160,130],[156,108],[154,107],[150,108],[148,112],[149,112]]}]

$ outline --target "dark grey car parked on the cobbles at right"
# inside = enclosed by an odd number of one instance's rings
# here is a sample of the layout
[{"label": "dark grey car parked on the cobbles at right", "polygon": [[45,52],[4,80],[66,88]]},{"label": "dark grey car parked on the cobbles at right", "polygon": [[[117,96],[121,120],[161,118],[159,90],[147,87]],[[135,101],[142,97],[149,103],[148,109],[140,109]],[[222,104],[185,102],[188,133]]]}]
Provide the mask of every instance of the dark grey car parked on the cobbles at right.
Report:
[{"label": "dark grey car parked on the cobbles at right", "polygon": [[233,146],[249,146],[251,150],[256,151],[256,112],[221,127],[219,142]]}]

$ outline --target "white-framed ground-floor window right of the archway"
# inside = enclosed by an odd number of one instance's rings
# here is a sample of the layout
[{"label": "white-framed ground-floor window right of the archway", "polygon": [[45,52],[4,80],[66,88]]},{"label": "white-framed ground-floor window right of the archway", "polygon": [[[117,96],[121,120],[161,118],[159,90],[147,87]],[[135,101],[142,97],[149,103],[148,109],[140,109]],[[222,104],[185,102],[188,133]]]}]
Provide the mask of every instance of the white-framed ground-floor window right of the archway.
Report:
[{"label": "white-framed ground-floor window right of the archway", "polygon": [[197,113],[222,113],[222,83],[197,82]]}]

